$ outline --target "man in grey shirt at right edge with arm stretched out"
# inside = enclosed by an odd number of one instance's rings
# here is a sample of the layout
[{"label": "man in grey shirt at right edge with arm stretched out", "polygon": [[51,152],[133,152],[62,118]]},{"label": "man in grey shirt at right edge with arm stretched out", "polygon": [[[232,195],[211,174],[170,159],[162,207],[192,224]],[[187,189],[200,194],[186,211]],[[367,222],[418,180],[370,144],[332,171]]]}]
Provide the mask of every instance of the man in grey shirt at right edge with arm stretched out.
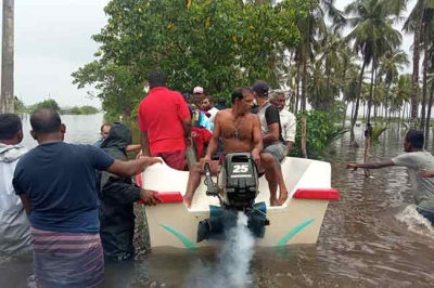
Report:
[{"label": "man in grey shirt at right edge with arm stretched out", "polygon": [[[393,159],[368,163],[347,163],[348,169],[380,169],[390,166],[400,166],[408,169],[411,186],[414,193],[414,202],[418,212],[434,224],[434,180],[430,176],[430,171],[434,170],[434,156],[423,150],[423,133],[409,131],[404,141],[405,154]],[[419,171],[419,172],[418,172]]]}]

